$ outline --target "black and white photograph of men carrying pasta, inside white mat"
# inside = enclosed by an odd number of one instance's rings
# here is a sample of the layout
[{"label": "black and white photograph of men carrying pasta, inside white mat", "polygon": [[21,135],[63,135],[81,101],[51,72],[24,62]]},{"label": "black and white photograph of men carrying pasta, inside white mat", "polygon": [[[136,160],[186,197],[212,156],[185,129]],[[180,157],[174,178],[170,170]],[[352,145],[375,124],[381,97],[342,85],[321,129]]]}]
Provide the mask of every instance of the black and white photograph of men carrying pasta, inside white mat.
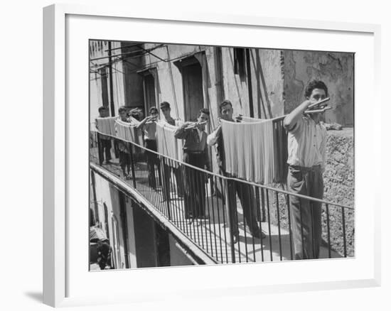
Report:
[{"label": "black and white photograph of men carrying pasta, inside white mat", "polygon": [[355,257],[354,53],[88,45],[90,271]]}]

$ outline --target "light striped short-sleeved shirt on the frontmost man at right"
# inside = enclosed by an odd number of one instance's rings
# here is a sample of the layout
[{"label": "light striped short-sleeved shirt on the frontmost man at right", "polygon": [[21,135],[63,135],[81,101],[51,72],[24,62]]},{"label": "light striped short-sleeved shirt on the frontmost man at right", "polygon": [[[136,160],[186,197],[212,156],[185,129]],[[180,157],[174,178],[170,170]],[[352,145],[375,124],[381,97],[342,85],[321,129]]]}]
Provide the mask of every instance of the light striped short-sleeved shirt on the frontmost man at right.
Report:
[{"label": "light striped short-sleeved shirt on the frontmost man at right", "polygon": [[311,168],[321,165],[324,171],[326,165],[326,127],[316,124],[308,116],[303,116],[288,133],[289,165]]}]

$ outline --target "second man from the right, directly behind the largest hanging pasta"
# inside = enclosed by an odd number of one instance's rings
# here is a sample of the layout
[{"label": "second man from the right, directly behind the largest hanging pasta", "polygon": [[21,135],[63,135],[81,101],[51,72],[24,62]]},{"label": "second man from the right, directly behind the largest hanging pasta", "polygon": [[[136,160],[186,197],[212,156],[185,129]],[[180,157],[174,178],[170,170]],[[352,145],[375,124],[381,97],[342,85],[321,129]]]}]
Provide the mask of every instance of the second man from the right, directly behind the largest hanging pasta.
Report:
[{"label": "second man from the right, directly behind the largest hanging pasta", "polygon": [[[220,116],[221,119],[225,121],[235,122],[232,119],[233,109],[232,103],[229,100],[225,100],[220,104]],[[220,173],[227,177],[232,177],[230,174],[225,172],[225,154],[224,154],[224,141],[223,133],[221,131],[221,124],[209,134],[208,136],[208,145],[213,146],[217,144],[217,157],[218,165],[220,168]],[[250,228],[252,236],[258,239],[263,239],[265,234],[259,229],[257,223],[257,215],[255,214],[252,205],[255,204],[255,194],[254,190],[250,185],[245,184],[244,182],[236,182],[235,180],[227,180],[227,194],[230,202],[230,224],[231,231],[234,242],[236,243],[239,238],[239,228],[237,227],[237,204],[236,204],[236,194],[239,197],[240,203],[242,204],[243,214],[245,216],[245,222]]]}]

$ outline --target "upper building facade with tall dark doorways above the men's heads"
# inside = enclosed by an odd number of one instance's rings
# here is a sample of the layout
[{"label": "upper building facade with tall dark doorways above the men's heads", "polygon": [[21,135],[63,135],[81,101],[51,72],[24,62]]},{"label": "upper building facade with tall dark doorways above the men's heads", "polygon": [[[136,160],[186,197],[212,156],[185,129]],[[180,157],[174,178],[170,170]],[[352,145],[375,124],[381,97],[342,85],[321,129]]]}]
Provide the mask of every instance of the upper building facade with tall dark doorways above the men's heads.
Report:
[{"label": "upper building facade with tall dark doorways above the men's heads", "polygon": [[333,107],[325,121],[353,126],[353,63],[353,53],[91,40],[90,104],[115,114],[166,101],[183,120],[208,107],[215,126],[224,99],[235,114],[271,119],[303,102],[306,84],[320,79]]}]

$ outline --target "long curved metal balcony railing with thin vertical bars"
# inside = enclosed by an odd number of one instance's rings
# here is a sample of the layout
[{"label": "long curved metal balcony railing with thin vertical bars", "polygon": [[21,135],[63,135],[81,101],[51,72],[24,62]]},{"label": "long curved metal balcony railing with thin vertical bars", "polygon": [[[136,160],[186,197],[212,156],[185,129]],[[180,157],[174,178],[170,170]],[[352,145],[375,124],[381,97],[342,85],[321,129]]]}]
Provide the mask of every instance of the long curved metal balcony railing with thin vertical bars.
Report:
[{"label": "long curved metal balcony railing with thin vertical bars", "polygon": [[[90,132],[90,162],[127,182],[217,263],[294,260],[294,198],[318,202],[322,213],[319,253],[309,258],[354,256],[353,207],[297,195],[283,185],[211,173],[117,137],[105,139]],[[306,230],[311,228],[301,227]]]}]

